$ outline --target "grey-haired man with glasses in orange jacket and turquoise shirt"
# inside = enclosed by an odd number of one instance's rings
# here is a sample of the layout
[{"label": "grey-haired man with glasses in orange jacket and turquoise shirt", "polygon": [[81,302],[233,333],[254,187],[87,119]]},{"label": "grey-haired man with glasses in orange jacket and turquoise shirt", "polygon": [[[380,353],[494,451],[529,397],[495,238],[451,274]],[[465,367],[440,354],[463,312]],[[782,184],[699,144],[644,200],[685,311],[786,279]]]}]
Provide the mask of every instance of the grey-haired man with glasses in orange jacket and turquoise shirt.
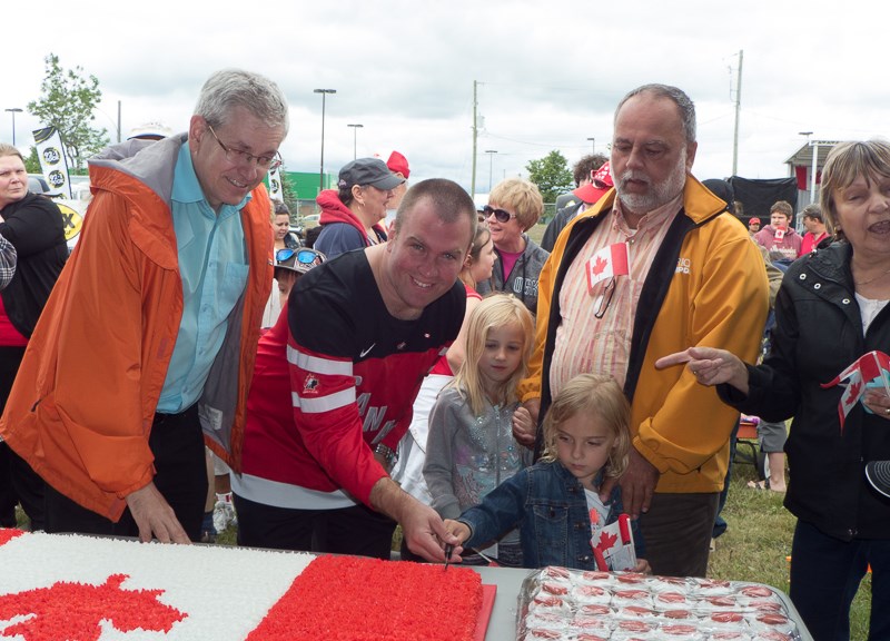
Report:
[{"label": "grey-haired man with glasses in orange jacket and turquoise shirt", "polygon": [[[235,469],[273,279],[287,101],[214,73],[187,134],[90,161],[93,199],[0,421],[47,482],[47,531],[200,535],[205,440]],[[204,433],[204,434],[202,434]]]}]

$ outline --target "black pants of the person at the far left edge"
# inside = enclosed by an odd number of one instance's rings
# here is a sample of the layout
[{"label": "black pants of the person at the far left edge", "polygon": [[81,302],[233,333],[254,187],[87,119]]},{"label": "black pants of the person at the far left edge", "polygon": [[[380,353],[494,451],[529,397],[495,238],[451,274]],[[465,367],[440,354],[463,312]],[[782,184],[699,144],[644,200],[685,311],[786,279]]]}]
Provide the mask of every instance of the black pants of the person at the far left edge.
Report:
[{"label": "black pants of the person at the far left edge", "polygon": [[[24,347],[0,347],[0,414],[19,372]],[[16,505],[31,520],[31,530],[43,529],[43,480],[6,443],[0,443],[0,526],[16,525]]]}]

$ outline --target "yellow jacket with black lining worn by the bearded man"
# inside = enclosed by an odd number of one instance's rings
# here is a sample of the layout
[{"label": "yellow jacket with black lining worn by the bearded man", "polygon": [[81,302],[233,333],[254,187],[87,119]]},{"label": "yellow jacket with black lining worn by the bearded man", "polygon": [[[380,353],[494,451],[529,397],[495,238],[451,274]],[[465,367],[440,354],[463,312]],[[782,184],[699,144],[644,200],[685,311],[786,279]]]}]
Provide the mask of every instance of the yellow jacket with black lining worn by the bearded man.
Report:
[{"label": "yellow jacket with black lining worn by the bearded man", "polygon": [[[560,235],[538,282],[535,349],[523,401],[550,406],[550,365],[561,323],[565,273],[595,227],[609,217],[614,189]],[[690,346],[729,349],[753,363],[768,310],[763,259],[725,203],[689,176],[683,210],[659,249],[634,314],[624,392],[631,436],[661,473],[656,492],[719,492],[729,462],[729,436],[739,413],[688,367],[655,369],[655,361]],[[541,434],[538,431],[538,443]]]}]

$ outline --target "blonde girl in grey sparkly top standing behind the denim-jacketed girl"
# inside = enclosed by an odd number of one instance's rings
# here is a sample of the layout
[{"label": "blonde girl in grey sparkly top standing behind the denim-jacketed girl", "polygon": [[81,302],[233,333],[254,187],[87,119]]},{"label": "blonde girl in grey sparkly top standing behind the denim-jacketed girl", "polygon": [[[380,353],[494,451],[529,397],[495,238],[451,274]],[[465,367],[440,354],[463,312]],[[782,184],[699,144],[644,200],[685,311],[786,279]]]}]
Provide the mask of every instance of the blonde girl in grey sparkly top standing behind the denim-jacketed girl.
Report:
[{"label": "blonde girl in grey sparkly top standing behind the denim-jacketed girl", "polygon": [[[531,313],[510,295],[484,298],[469,315],[466,358],[429,413],[424,480],[443,519],[477,505],[527,464],[513,430],[532,427],[516,386],[525,376],[533,333]],[[518,532],[498,534],[483,552],[501,565],[522,566]],[[486,563],[475,554],[464,562]]]}]

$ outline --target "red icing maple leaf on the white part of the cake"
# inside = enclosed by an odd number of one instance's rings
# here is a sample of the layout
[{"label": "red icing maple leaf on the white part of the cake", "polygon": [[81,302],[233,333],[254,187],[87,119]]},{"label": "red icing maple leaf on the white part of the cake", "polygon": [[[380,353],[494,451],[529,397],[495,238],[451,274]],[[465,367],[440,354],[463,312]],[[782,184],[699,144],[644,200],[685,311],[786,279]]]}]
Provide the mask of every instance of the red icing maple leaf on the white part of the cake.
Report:
[{"label": "red icing maple leaf on the white part of the cake", "polygon": [[0,621],[31,615],[0,631],[0,637],[97,641],[102,620],[121,632],[169,632],[174,623],[187,617],[157,600],[162,590],[122,590],[126,579],[126,574],[112,574],[102,585],[59,581],[49,588],[0,595]]}]

